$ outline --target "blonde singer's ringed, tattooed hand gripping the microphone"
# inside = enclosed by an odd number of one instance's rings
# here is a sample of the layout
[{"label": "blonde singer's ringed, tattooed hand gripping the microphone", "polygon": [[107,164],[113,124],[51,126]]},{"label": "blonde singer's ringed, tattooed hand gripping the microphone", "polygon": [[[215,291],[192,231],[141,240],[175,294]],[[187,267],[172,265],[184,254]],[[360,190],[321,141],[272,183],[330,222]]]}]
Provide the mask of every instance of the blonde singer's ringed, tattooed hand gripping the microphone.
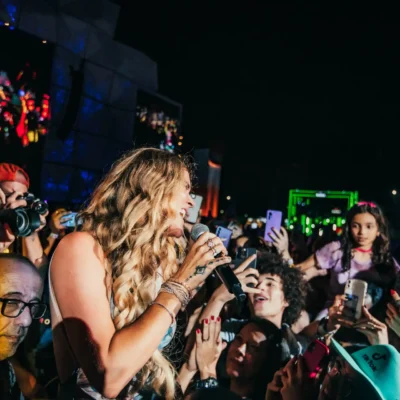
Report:
[{"label": "blonde singer's ringed, tattooed hand gripping the microphone", "polygon": [[[220,253],[222,256],[215,258]],[[205,232],[191,246],[173,279],[195,290],[216,267],[229,264],[231,261],[221,239],[211,232]]]}]

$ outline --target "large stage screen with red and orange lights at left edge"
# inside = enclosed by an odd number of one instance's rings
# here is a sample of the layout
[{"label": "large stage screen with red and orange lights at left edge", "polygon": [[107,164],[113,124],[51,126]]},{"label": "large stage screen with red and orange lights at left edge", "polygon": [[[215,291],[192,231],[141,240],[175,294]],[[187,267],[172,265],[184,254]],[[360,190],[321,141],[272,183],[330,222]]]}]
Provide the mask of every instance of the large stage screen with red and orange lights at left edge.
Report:
[{"label": "large stage screen with red and orange lights at left edge", "polygon": [[51,118],[54,46],[4,25],[0,42],[0,162],[24,167],[37,193]]}]

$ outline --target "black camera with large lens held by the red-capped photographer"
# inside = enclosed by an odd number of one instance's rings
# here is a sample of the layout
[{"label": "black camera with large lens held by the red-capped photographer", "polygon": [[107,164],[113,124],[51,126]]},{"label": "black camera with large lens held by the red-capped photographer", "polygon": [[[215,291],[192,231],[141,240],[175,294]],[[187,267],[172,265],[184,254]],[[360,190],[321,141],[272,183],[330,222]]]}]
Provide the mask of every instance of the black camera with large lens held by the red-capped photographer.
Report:
[{"label": "black camera with large lens held by the red-capped photographer", "polygon": [[48,206],[32,193],[18,196],[17,200],[25,200],[27,206],[14,210],[0,209],[0,223],[8,224],[15,236],[26,237],[40,227],[40,215],[47,213]]}]

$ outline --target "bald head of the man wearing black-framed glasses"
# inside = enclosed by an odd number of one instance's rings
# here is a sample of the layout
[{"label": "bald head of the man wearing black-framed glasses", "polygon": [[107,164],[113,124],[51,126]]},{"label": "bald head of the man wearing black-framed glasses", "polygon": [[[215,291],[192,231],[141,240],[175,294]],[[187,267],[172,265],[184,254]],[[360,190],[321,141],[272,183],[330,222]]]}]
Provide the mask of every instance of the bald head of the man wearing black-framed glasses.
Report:
[{"label": "bald head of the man wearing black-framed glasses", "polygon": [[42,293],[42,279],[27,258],[16,254],[0,254],[0,361],[15,354],[32,323],[29,307],[15,318],[7,316],[5,307],[23,304],[21,302],[38,303]]}]

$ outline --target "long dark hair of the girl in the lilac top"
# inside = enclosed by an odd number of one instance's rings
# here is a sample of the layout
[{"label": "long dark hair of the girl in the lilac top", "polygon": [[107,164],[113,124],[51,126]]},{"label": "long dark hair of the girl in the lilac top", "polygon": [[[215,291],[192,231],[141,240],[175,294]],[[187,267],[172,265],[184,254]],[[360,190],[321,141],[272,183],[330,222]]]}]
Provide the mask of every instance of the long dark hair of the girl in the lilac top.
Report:
[{"label": "long dark hair of the girl in the lilac top", "polygon": [[342,270],[350,269],[352,250],[357,246],[351,234],[351,223],[357,214],[371,214],[378,225],[379,236],[375,239],[372,245],[372,263],[375,266],[394,268],[393,257],[390,254],[390,240],[388,223],[383,215],[382,210],[375,203],[362,202],[354,205],[347,213],[346,224],[343,229],[342,236]]}]

